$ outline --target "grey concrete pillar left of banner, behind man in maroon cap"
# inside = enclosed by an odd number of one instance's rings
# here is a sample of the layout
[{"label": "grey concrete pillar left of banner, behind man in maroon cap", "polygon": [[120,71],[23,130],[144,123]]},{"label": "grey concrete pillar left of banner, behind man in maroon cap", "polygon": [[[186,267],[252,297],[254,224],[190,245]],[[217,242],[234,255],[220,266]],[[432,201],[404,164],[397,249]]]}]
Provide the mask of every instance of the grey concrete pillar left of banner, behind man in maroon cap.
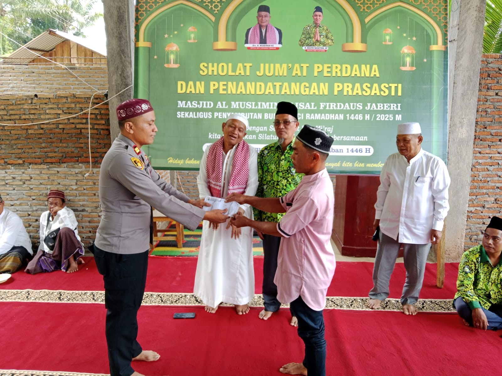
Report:
[{"label": "grey concrete pillar left of banner, behind man in maroon cap", "polygon": [[[106,61],[108,67],[108,97],[133,85],[134,82],[134,0],[102,0],[104,31],[106,34]],[[118,135],[115,116],[117,106],[133,98],[133,87],[108,102],[110,108],[110,135]]]}]

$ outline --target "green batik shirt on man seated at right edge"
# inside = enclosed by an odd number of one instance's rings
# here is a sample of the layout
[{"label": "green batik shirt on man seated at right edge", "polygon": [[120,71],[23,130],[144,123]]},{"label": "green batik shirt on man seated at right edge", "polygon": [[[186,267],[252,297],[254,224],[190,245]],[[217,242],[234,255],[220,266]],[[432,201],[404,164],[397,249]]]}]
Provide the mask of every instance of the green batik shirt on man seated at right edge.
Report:
[{"label": "green batik shirt on man seated at right edge", "polygon": [[502,258],[492,266],[482,245],[464,252],[458,266],[457,293],[471,309],[502,303]]}]

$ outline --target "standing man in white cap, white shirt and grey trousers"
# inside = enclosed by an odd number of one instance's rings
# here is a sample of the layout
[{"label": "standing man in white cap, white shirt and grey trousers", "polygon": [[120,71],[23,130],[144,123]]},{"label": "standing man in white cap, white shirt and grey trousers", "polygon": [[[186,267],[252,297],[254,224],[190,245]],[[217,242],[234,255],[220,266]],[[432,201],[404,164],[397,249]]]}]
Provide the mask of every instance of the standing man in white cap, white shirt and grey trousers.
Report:
[{"label": "standing man in white cap, white shirt and grey trousers", "polygon": [[445,163],[422,149],[419,123],[398,125],[397,153],[390,155],[380,174],[376,193],[375,228],[380,228],[373,267],[369,308],[389,296],[389,281],[403,245],[406,282],[401,296],[403,312],[417,314],[425,264],[432,244],[441,238],[448,213],[450,176]]}]

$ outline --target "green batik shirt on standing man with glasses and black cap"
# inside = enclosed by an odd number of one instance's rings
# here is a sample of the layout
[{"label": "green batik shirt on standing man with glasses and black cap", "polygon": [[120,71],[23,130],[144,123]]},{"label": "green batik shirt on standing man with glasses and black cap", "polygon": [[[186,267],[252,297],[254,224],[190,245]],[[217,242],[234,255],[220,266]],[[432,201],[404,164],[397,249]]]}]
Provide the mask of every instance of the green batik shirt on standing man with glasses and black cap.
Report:
[{"label": "green batik shirt on standing man with glasses and black cap", "polygon": [[[258,190],[257,197],[283,197],[300,183],[303,173],[296,173],[291,160],[295,138],[286,150],[276,141],[265,146],[258,153]],[[253,208],[255,221],[279,222],[283,213],[267,213]]]}]

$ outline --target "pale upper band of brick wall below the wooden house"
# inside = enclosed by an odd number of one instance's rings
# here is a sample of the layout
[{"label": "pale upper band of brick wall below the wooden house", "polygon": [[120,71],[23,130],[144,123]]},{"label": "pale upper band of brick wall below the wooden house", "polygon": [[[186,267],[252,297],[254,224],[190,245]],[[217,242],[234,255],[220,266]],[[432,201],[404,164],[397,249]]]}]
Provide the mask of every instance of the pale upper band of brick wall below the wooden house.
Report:
[{"label": "pale upper band of brick wall below the wooden house", "polygon": [[[108,73],[106,65],[75,66],[68,69],[59,65],[2,65],[0,64],[0,93],[38,94],[51,92],[94,93],[106,90]],[[72,72],[87,82],[86,85]]]}]

